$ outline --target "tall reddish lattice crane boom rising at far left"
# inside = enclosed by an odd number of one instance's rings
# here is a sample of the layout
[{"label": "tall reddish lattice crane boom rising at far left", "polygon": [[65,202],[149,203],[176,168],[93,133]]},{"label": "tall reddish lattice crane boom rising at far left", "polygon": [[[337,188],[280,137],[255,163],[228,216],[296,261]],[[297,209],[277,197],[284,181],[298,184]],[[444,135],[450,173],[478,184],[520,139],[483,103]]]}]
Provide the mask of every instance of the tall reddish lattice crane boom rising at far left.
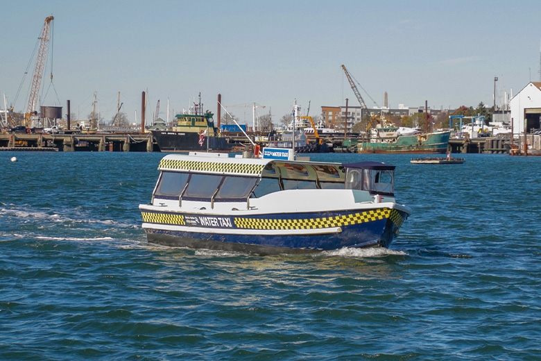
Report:
[{"label": "tall reddish lattice crane boom rising at far left", "polygon": [[[37,94],[40,92],[40,85],[42,83],[43,69],[45,67],[45,59],[47,58],[47,51],[49,50],[49,36],[51,34],[51,22],[54,17],[51,15],[45,18],[45,24],[42,28],[42,35],[40,36],[40,48],[37,51],[37,57],[35,58],[34,76],[32,78],[32,86],[30,88],[30,94],[28,95],[28,106],[26,106],[26,112],[24,113],[24,125],[31,127],[31,118],[37,115],[36,102]],[[53,74],[51,73],[51,81],[53,80]]]}]

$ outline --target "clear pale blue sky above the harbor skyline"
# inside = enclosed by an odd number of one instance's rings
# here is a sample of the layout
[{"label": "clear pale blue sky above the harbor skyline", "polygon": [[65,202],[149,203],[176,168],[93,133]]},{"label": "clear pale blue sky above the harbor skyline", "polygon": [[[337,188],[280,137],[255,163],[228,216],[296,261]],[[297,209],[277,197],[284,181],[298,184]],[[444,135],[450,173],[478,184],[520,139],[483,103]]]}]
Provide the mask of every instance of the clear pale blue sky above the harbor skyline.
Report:
[{"label": "clear pale blue sky above the harbor skyline", "polygon": [[158,99],[165,119],[167,99],[180,112],[199,93],[212,112],[222,94],[241,124],[251,124],[252,103],[275,123],[295,99],[318,115],[346,98],[359,105],[342,64],[369,108],[383,105],[384,92],[391,108],[425,100],[438,109],[491,106],[495,76],[497,96],[540,80],[539,0],[21,0],[1,9],[0,94],[15,111],[26,110],[32,54],[49,15],[40,105],[69,99],[81,118],[97,92],[109,121],[120,92],[122,110],[139,123],[143,91],[147,120]]}]

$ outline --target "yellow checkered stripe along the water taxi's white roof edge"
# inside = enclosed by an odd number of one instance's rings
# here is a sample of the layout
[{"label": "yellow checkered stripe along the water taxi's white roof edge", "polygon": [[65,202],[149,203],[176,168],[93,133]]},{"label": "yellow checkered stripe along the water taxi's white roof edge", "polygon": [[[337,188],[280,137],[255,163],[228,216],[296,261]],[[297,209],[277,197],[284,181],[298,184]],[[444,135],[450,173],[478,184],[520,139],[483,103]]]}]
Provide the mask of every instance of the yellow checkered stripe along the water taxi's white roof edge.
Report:
[{"label": "yellow checkered stripe along the water taxi's white roof edge", "polygon": [[198,162],[196,160],[162,159],[160,169],[178,169],[185,171],[209,171],[214,173],[261,174],[265,165],[239,163]]}]

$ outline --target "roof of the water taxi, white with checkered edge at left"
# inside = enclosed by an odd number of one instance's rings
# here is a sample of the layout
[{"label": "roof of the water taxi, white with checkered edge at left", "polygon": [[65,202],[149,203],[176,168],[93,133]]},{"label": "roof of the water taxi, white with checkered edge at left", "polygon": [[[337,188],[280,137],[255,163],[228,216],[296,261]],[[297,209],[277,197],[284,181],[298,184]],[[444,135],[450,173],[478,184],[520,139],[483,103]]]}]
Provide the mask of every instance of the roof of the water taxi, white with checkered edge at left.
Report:
[{"label": "roof of the water taxi, white with checkered edge at left", "polygon": [[[268,167],[267,167],[268,165]],[[160,160],[160,171],[182,171],[205,174],[261,176],[269,169],[280,167],[290,174],[343,174],[345,168],[395,169],[394,165],[380,162],[313,162],[309,160],[277,160],[269,158],[241,158],[230,153],[169,154]],[[264,172],[264,169],[267,171]]]}]

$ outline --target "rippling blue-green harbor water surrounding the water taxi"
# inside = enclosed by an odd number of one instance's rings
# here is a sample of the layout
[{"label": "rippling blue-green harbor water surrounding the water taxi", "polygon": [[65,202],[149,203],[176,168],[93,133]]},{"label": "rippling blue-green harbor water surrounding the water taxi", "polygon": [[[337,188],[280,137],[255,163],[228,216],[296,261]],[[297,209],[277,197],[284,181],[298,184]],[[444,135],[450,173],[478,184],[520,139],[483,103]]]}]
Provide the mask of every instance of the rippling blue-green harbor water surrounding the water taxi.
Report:
[{"label": "rippling blue-green harbor water surrounding the water taxi", "polygon": [[541,359],[541,157],[312,154],[396,165],[413,214],[387,250],[255,257],[146,242],[162,156],[0,154],[0,360]]}]

